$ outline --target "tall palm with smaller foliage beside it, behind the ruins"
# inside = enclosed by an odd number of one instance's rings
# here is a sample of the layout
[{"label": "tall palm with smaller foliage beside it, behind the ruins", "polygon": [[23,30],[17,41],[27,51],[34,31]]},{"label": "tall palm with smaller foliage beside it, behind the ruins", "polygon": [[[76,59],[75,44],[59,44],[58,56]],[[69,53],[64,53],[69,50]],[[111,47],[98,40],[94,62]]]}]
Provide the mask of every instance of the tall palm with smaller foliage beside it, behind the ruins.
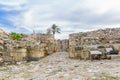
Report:
[{"label": "tall palm with smaller foliage beside it, behind the ruins", "polygon": [[55,40],[55,34],[60,33],[60,28],[56,24],[53,24],[51,28],[47,29],[47,34],[53,34],[53,39]]}]

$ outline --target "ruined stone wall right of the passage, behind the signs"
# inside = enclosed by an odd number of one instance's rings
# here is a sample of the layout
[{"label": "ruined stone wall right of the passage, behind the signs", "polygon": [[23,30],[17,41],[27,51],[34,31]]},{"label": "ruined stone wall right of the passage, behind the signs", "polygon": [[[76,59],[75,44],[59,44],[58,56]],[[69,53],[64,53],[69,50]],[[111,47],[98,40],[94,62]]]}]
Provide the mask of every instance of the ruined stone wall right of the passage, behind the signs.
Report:
[{"label": "ruined stone wall right of the passage, behind the signs", "polygon": [[[116,32],[117,31],[117,32]],[[80,32],[69,35],[69,57],[90,59],[90,51],[99,50],[102,52],[102,58],[110,58],[106,56],[107,47],[114,50],[120,50],[120,29],[106,29],[91,32]],[[102,46],[101,48],[99,48]]]}]

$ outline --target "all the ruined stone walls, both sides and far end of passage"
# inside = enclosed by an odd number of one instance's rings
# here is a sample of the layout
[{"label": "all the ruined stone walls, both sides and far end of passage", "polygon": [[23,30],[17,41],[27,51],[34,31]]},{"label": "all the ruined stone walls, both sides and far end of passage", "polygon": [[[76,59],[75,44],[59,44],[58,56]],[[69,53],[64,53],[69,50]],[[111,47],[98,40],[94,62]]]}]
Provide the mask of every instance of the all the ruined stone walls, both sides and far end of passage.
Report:
[{"label": "all the ruined stone walls, both sides and far end of passage", "polygon": [[[113,34],[114,33],[114,34]],[[90,59],[91,50],[99,50],[102,58],[106,49],[120,50],[120,29],[80,32],[69,35],[69,39],[54,40],[52,34],[23,34],[21,40],[12,40],[9,33],[0,29],[0,63],[36,61],[54,52],[69,52],[70,58]]]}]

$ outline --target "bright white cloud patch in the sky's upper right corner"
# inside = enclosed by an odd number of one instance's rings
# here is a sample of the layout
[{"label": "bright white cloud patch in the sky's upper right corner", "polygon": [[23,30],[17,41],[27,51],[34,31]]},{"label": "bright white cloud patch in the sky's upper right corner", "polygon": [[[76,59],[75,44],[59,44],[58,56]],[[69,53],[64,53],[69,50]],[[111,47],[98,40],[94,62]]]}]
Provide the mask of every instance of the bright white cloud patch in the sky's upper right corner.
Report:
[{"label": "bright white cloud patch in the sky's upper right corner", "polygon": [[98,14],[104,14],[107,11],[120,12],[120,0],[85,0],[83,4]]}]

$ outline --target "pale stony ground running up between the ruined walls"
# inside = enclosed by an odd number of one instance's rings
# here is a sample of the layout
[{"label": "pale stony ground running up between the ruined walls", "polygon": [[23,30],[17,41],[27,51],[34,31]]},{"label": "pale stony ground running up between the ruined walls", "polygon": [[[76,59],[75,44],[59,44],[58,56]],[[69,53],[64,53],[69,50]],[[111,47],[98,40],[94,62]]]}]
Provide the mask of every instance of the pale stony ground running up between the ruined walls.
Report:
[{"label": "pale stony ground running up between the ruined walls", "polygon": [[0,80],[120,80],[120,58],[81,61],[58,52],[36,62],[2,66]]}]

